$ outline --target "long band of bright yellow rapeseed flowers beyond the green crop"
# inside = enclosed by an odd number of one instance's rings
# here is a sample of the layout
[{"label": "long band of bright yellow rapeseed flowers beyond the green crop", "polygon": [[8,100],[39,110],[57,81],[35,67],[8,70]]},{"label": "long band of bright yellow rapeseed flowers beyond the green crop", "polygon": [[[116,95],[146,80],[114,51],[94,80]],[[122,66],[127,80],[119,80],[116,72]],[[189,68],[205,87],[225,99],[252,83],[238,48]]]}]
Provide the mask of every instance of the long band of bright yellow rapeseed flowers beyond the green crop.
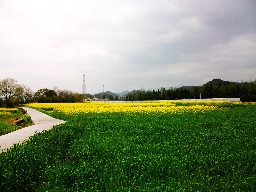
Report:
[{"label": "long band of bright yellow rapeseed flowers beyond the green crop", "polygon": [[[184,101],[183,101],[184,102]],[[194,104],[194,103],[193,103]],[[216,110],[218,107],[207,105],[176,106],[173,102],[144,102],[144,103],[33,103],[28,107],[52,109],[69,115],[84,113],[125,113],[128,115],[157,113],[182,113]]]}]

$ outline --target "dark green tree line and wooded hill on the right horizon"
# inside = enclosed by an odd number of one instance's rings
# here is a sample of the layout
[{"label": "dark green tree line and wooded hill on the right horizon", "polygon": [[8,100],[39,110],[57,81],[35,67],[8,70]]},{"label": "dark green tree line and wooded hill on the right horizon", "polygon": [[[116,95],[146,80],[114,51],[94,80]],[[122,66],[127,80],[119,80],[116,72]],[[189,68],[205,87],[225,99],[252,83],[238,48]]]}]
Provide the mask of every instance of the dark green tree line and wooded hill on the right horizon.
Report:
[{"label": "dark green tree line and wooded hill on the right horizon", "polygon": [[242,102],[256,102],[255,82],[228,82],[213,79],[202,86],[190,88],[161,87],[158,91],[134,90],[127,94],[126,100],[176,100],[176,99],[206,99],[206,98],[240,98]]}]

